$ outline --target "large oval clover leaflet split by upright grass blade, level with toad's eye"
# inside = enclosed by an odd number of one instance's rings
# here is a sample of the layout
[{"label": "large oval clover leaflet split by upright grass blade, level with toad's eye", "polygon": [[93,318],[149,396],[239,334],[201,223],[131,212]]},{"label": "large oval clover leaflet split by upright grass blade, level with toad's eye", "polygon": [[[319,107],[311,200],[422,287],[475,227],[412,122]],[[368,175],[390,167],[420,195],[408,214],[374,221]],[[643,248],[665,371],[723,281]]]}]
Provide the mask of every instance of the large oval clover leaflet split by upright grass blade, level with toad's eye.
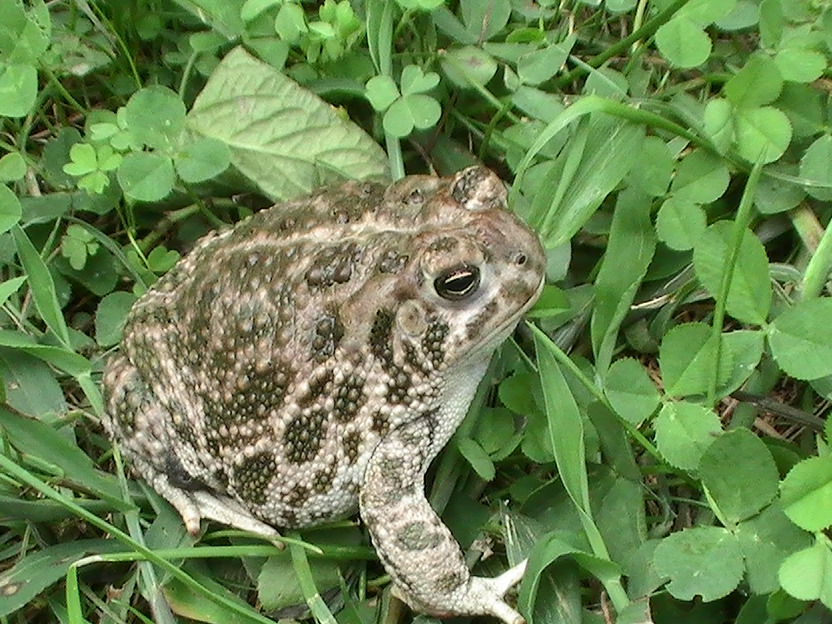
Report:
[{"label": "large oval clover leaflet split by upright grass blade, level with toad's eye", "polygon": [[[733,243],[734,224],[724,220],[711,225],[693,248],[696,276],[714,298],[720,295]],[[736,252],[725,309],[740,321],[762,325],[771,308],[771,292],[766,250],[760,240],[746,229]]]}]

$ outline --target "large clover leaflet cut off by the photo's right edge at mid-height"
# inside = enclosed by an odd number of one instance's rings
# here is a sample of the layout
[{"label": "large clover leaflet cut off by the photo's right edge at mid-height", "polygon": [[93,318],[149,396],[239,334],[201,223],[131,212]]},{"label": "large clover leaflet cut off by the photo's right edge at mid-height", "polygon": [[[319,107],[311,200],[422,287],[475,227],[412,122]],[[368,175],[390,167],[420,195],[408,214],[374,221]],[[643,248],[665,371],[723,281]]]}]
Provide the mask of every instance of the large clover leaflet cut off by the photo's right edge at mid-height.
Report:
[{"label": "large clover leaflet cut off by the photo's right edge at mid-height", "polygon": [[797,379],[832,374],[832,299],[799,301],[769,327],[769,345],[777,365]]}]

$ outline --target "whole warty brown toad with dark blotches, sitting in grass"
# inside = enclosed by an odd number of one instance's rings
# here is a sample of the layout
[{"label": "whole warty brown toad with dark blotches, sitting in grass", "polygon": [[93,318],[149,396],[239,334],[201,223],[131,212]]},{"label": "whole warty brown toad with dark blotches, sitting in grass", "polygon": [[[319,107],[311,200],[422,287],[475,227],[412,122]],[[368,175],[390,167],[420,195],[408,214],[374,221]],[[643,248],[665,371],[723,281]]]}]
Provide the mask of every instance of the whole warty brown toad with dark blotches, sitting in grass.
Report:
[{"label": "whole warty brown toad with dark blotches, sitting in grass", "polygon": [[523,564],[471,577],[424,474],[545,256],[472,167],[351,182],[203,238],[136,302],[108,364],[108,431],[182,514],[276,535],[360,508],[399,595],[522,617]]}]

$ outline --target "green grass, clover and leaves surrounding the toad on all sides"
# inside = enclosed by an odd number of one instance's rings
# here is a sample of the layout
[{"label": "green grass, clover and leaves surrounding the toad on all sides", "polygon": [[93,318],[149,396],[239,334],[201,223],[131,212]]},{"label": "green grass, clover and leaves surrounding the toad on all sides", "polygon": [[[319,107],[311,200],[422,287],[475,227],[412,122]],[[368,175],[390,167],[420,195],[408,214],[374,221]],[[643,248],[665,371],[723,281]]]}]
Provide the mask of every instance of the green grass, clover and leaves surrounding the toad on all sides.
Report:
[{"label": "green grass, clover and leaves surrounding the toad on all sides", "polygon": [[0,0],[0,621],[413,619],[357,521],[188,536],[99,380],[209,229],[477,161],[549,285],[429,473],[469,563],[538,624],[828,617],[831,59],[813,0]]}]

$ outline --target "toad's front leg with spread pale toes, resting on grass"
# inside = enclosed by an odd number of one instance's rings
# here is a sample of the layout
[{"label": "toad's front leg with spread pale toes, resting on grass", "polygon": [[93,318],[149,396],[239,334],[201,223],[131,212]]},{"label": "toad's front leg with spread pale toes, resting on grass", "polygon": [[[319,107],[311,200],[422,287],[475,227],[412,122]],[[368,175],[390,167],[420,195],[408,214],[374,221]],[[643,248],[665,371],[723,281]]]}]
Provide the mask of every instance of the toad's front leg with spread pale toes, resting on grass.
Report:
[{"label": "toad's front leg with spread pale toes, resting on grass", "polygon": [[373,452],[360,494],[361,517],[397,594],[431,615],[490,614],[524,619],[503,600],[523,578],[525,561],[501,576],[471,576],[462,551],[424,494],[433,422],[417,418],[388,433]]}]

